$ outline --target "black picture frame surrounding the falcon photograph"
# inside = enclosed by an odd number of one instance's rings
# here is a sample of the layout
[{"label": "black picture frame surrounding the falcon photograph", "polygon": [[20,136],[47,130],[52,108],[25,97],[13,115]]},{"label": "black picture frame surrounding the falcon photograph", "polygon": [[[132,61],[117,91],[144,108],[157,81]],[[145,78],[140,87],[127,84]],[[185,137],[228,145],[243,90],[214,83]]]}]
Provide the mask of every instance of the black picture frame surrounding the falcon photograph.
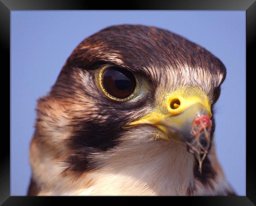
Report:
[{"label": "black picture frame surrounding the falcon photograph", "polygon": [[[113,6],[115,5],[115,6]],[[82,1],[82,0],[0,0],[0,42],[2,49],[2,63],[10,64],[10,12],[13,10],[89,10],[89,9],[118,9],[118,10],[243,10],[246,11],[246,94],[250,97],[250,88],[254,88],[253,75],[249,75],[252,71],[255,59],[255,36],[256,36],[256,2],[255,0],[142,0],[129,1],[127,4],[123,2],[101,2]],[[254,55],[253,55],[254,53]],[[10,67],[9,67],[10,68]],[[4,69],[2,68],[2,71]],[[9,73],[10,74],[10,73]],[[11,79],[10,79],[11,81]],[[2,89],[6,87],[6,83],[2,82]],[[11,97],[9,96],[11,101]],[[4,101],[7,102],[7,101]],[[247,110],[252,107],[253,101],[246,102]],[[9,103],[10,105],[10,103]],[[7,106],[8,107],[8,103]],[[5,108],[6,108],[5,107]],[[10,106],[9,106],[10,108]],[[251,113],[251,112],[250,112]],[[11,110],[9,115],[11,114]],[[9,116],[10,117],[10,116]],[[249,119],[249,118],[248,118]],[[248,120],[247,119],[247,120]],[[10,122],[10,121],[9,121]],[[256,163],[254,160],[254,144],[253,135],[250,136],[249,128],[253,121],[247,121],[247,143],[246,143],[246,196],[234,197],[162,197],[175,198],[179,204],[195,204],[195,205],[255,205],[256,204]],[[3,123],[3,124],[7,124]],[[10,125],[11,127],[11,125]],[[2,125],[3,129],[7,130],[7,125]],[[10,134],[10,129],[9,129]],[[4,136],[3,136],[4,137]],[[250,138],[252,137],[252,138]],[[11,135],[10,135],[11,138]],[[2,140],[3,141],[3,140]],[[1,166],[0,166],[0,204],[3,205],[45,205],[46,203],[56,203],[57,197],[20,197],[10,196],[10,142],[2,143],[1,147]],[[5,145],[5,146],[3,146]],[[10,145],[9,145],[10,146]],[[236,171],[234,171],[236,172]],[[61,197],[58,197],[58,199]],[[66,198],[66,197],[65,197]],[[73,198],[73,197],[72,197]],[[96,202],[103,197],[78,197],[80,200],[92,200]],[[104,197],[110,200],[110,197]],[[115,197],[129,201],[128,197]],[[138,199],[139,197],[135,197]],[[142,197],[144,199],[144,197]],[[148,197],[151,200],[157,200],[158,197]],[[157,198],[157,199],[156,199]],[[191,199],[192,198],[192,199]],[[167,200],[167,199],[166,199]],[[66,200],[65,200],[66,201]],[[134,201],[130,199],[130,201]],[[67,202],[68,203],[68,202]],[[85,202],[84,202],[85,203]]]}]

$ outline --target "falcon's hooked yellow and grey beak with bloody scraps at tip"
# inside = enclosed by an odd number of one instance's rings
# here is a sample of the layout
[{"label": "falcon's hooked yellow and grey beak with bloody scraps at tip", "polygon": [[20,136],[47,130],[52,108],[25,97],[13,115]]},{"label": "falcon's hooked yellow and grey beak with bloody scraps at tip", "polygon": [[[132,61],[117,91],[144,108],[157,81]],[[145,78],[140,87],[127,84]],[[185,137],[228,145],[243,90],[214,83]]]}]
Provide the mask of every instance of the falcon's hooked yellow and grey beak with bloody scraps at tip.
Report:
[{"label": "falcon's hooked yellow and grey beak with bloody scraps at tip", "polygon": [[157,109],[123,128],[154,125],[163,132],[161,138],[186,143],[201,172],[210,146],[211,116],[208,97],[199,89],[188,87],[167,95]]}]

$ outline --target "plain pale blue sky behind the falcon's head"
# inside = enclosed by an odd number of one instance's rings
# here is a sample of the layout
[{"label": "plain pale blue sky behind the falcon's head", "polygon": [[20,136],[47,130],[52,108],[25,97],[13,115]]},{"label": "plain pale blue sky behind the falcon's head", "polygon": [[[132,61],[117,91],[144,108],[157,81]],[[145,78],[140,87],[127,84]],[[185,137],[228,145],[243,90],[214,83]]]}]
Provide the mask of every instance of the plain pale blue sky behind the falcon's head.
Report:
[{"label": "plain pale blue sky behind the falcon's head", "polygon": [[36,100],[83,39],[116,24],[167,29],[221,59],[227,77],[215,107],[217,156],[245,195],[245,11],[11,11],[11,195],[28,188]]}]

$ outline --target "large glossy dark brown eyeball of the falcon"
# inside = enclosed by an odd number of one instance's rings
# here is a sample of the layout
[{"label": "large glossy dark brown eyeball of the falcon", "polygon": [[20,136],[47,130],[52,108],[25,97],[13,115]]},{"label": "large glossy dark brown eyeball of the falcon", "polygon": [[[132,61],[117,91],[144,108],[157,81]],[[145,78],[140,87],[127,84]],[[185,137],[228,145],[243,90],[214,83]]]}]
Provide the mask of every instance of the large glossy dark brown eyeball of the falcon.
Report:
[{"label": "large glossy dark brown eyeball of the falcon", "polygon": [[136,81],[132,72],[112,67],[104,72],[102,84],[104,89],[112,96],[126,98],[134,92]]}]

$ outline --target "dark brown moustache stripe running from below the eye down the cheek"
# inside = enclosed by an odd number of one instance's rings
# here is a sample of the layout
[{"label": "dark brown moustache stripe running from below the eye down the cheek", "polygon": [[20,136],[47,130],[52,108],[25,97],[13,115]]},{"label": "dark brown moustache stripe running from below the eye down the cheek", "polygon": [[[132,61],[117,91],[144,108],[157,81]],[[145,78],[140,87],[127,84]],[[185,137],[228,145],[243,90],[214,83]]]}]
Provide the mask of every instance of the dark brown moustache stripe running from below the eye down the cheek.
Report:
[{"label": "dark brown moustache stripe running from below the eye down the cheek", "polygon": [[83,172],[93,169],[94,166],[90,164],[87,156],[91,153],[107,151],[119,144],[118,139],[126,132],[121,126],[130,120],[130,115],[126,114],[126,111],[139,110],[145,106],[146,102],[148,103],[148,98],[143,97],[137,103],[126,103],[126,106],[122,105],[124,103],[117,103],[114,112],[108,110],[109,104],[99,104],[100,115],[109,116],[104,122],[97,119],[84,121],[79,117],[73,118],[74,134],[66,142],[71,151],[65,161],[69,165],[66,171],[72,171],[79,176]]}]

